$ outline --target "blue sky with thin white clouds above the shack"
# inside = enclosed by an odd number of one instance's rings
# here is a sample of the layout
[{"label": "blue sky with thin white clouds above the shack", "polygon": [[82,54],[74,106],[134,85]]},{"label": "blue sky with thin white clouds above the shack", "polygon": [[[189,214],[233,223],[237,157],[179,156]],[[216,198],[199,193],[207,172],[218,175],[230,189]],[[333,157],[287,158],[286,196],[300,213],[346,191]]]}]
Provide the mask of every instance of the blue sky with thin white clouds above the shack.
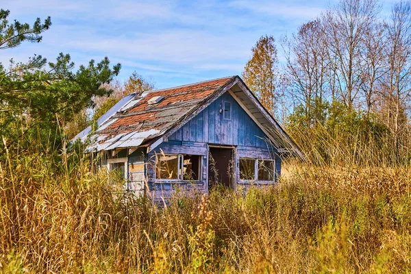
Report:
[{"label": "blue sky with thin white clouds above the shack", "polygon": [[[10,19],[51,16],[40,44],[2,51],[0,62],[70,53],[77,64],[108,56],[166,88],[240,75],[264,34],[278,39],[318,16],[330,0],[314,1],[5,1]],[[5,2],[4,2],[5,1]],[[332,2],[331,2],[332,3]]]}]

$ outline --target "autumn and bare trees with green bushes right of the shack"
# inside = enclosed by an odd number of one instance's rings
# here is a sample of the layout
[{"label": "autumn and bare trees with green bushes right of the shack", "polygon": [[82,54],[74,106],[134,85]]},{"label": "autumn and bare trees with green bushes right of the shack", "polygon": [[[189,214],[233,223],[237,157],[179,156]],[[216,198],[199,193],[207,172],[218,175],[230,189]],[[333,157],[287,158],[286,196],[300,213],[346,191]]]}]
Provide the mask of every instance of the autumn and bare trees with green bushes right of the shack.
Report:
[{"label": "autumn and bare trees with green bushes right of the shack", "polygon": [[331,123],[335,133],[347,120],[366,121],[371,137],[384,132],[393,153],[408,159],[410,2],[394,3],[384,17],[379,1],[340,0],[279,45],[281,64],[273,36],[262,36],[242,76],[291,132]]}]

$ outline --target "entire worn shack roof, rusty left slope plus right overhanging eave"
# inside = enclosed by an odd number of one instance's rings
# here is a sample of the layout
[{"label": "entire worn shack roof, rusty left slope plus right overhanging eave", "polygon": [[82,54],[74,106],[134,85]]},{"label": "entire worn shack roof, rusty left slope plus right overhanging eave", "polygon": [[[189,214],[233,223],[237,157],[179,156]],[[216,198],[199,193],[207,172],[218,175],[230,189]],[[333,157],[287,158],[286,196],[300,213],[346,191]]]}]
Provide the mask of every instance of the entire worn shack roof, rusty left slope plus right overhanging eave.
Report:
[{"label": "entire worn shack roof, rusty left slope plus right overhanging eave", "polygon": [[[251,110],[277,148],[292,148],[300,154],[284,129],[238,76],[127,95],[97,121],[97,130],[90,136],[90,145],[86,150],[138,147],[168,137],[224,92],[230,92],[243,108]],[[91,128],[88,127],[74,140],[84,140],[90,132]],[[160,142],[162,140],[157,141]]]}]

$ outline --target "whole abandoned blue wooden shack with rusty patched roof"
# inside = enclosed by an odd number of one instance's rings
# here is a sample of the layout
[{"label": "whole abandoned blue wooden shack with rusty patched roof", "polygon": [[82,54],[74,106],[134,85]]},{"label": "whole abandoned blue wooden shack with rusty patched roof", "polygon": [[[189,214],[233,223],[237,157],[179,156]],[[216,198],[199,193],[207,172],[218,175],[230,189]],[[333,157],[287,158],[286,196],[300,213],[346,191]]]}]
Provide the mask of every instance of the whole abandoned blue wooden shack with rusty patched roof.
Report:
[{"label": "whole abandoned blue wooden shack with rusty patched roof", "polygon": [[274,184],[299,149],[238,76],[127,95],[75,139],[153,199],[216,184]]}]

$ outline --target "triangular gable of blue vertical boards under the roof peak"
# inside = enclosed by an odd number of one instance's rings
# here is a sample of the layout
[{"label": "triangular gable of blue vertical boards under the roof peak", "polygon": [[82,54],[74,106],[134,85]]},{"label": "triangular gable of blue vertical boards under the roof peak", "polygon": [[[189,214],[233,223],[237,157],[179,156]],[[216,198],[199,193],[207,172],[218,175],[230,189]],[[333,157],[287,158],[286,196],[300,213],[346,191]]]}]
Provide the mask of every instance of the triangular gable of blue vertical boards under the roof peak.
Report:
[{"label": "triangular gable of blue vertical boards under the roof peak", "polygon": [[[225,101],[232,104],[231,120],[223,119],[220,114]],[[267,148],[264,132],[227,92],[172,134],[169,140]]]}]

